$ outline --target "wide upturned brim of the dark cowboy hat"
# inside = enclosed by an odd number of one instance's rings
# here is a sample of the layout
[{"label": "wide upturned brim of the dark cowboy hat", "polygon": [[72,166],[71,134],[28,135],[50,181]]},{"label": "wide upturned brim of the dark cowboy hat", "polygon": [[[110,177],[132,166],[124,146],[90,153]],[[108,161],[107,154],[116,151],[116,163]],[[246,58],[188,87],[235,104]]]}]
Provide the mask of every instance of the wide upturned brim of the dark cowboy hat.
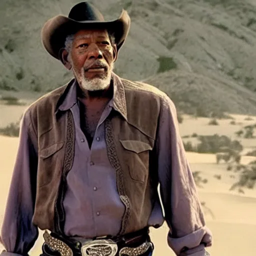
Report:
[{"label": "wide upturned brim of the dark cowboy hat", "polygon": [[59,59],[59,50],[64,47],[67,35],[74,34],[80,29],[107,29],[113,33],[118,51],[128,34],[129,27],[130,17],[126,10],[122,10],[119,18],[112,21],[76,21],[57,15],[43,25],[41,40],[48,53]]}]

